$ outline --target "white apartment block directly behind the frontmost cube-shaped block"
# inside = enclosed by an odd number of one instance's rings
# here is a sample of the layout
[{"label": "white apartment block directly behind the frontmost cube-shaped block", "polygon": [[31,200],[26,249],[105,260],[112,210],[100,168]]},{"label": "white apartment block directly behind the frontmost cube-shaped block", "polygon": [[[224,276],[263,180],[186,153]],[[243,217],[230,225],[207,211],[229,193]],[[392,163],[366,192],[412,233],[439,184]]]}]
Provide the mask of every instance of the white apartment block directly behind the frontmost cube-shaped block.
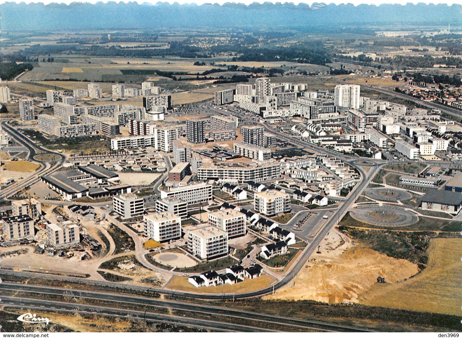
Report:
[{"label": "white apartment block directly behind the frontmost cube-shaped block", "polygon": [[245,236],[245,216],[234,209],[209,212],[208,223],[228,233],[228,238]]}]

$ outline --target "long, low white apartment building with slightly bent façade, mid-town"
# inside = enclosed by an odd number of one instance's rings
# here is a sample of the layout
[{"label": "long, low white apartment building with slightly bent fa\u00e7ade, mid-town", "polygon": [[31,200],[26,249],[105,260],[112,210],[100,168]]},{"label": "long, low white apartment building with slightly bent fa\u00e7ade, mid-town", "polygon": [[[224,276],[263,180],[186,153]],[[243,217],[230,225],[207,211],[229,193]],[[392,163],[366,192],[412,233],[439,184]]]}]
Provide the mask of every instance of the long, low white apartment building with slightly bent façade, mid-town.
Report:
[{"label": "long, low white apartment building with slightly bent fa\u00e7ade, mid-town", "polygon": [[264,164],[261,166],[232,167],[212,166],[197,168],[197,180],[237,181],[267,181],[281,176],[279,163]]}]

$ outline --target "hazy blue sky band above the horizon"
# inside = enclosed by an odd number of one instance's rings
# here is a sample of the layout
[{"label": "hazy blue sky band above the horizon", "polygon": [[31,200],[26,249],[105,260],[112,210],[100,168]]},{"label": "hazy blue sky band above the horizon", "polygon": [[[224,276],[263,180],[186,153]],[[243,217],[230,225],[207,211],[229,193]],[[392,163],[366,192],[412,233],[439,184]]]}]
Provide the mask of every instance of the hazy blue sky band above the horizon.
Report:
[{"label": "hazy blue sky band above the horizon", "polygon": [[73,2],[25,4],[6,2],[0,5],[1,28],[13,30],[100,30],[155,29],[249,26],[304,28],[307,30],[335,27],[390,24],[451,24],[460,30],[462,6],[444,4],[334,5],[316,8],[293,3],[249,6],[237,3],[179,5],[159,2],[138,4],[113,1],[96,4]]}]

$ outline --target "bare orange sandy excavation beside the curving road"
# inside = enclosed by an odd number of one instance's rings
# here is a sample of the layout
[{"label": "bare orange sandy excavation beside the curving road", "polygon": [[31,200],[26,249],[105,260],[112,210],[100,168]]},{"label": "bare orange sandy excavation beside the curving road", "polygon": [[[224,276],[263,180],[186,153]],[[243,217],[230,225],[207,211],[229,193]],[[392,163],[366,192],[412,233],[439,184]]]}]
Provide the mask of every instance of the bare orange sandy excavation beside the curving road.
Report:
[{"label": "bare orange sandy excavation beside the curving road", "polygon": [[396,283],[417,272],[417,265],[407,260],[355,247],[346,235],[331,230],[322,241],[321,253],[313,253],[295,276],[295,287],[289,283],[264,299],[359,302],[359,295],[376,284],[377,277]]}]

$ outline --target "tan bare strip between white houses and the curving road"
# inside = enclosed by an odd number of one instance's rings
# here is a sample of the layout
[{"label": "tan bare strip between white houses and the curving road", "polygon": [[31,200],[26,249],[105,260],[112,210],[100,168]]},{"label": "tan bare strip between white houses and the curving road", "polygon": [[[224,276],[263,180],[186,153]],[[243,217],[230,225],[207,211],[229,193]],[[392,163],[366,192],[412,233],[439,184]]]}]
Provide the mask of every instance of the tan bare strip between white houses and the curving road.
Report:
[{"label": "tan bare strip between white houses and the curving road", "polygon": [[245,278],[243,282],[237,284],[223,284],[219,286],[202,286],[196,288],[188,282],[188,277],[175,276],[165,286],[166,289],[181,290],[197,293],[242,293],[260,290],[269,287],[275,279],[269,275],[261,275],[258,278]]}]

